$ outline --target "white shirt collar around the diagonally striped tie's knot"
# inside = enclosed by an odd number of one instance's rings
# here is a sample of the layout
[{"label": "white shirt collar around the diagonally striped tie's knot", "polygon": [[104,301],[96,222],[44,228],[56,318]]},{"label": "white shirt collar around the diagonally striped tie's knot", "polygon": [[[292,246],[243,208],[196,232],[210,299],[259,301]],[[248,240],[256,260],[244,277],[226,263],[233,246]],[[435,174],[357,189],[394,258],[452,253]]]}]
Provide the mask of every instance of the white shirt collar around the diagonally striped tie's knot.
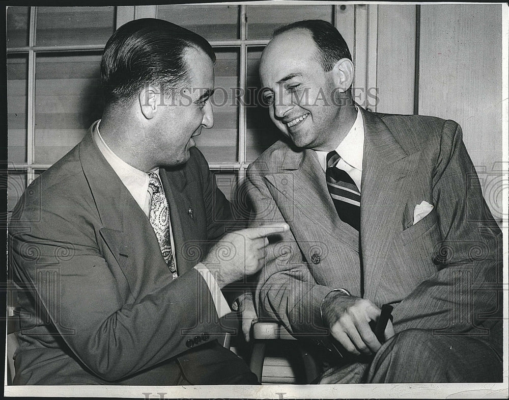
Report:
[{"label": "white shirt collar around the diagonally striped tie's knot", "polygon": [[[357,108],[357,118],[348,131],[345,139],[335,149],[337,154],[349,165],[362,171],[362,159],[364,155],[364,120],[360,107]],[[330,151],[330,150],[329,150]],[[325,171],[327,168],[328,151],[316,151],[320,165]]]}]

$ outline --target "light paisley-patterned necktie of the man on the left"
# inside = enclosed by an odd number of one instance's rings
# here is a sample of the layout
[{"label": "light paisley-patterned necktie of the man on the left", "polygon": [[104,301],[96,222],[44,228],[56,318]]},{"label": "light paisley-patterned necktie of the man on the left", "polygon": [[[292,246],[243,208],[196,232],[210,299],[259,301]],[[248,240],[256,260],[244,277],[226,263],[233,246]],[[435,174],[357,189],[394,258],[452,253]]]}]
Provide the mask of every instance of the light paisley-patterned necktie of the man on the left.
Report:
[{"label": "light paisley-patterned necktie of the man on the left", "polygon": [[164,195],[159,176],[155,172],[149,173],[149,188],[152,189],[149,221],[152,228],[154,228],[164,261],[166,261],[169,270],[172,272],[172,277],[175,279],[178,275],[173,259],[172,241],[169,237],[168,201]]}]

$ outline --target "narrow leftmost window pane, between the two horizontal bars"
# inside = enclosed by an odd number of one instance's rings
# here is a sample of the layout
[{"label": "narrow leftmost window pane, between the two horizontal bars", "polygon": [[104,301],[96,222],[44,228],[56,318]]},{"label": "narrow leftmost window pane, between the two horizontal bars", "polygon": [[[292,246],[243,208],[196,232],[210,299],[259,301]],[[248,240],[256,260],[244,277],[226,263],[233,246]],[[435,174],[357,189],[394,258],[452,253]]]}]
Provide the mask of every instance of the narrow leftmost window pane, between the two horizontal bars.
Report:
[{"label": "narrow leftmost window pane, between the two horizontal bars", "polygon": [[7,148],[12,163],[26,162],[28,57],[7,58]]}]

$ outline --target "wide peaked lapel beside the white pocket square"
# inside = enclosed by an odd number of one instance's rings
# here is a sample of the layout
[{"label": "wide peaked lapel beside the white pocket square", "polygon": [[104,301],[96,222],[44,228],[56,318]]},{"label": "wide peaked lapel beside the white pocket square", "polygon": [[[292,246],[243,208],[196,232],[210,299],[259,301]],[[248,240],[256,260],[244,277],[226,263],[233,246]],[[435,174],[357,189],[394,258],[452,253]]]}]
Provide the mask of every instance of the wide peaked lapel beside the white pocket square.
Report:
[{"label": "wide peaked lapel beside the white pocket square", "polygon": [[383,276],[389,245],[402,230],[401,212],[411,193],[419,152],[408,155],[376,115],[362,110],[364,157],[360,237],[364,296],[373,299]]}]

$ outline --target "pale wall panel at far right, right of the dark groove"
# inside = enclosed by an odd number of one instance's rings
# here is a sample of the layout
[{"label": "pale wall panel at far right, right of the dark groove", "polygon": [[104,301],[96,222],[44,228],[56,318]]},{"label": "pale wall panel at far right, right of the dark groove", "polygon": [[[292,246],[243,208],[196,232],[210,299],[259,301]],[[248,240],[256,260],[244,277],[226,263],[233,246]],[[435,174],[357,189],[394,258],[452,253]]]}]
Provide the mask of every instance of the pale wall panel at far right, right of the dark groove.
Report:
[{"label": "pale wall panel at far right, right of the dark groove", "polygon": [[490,173],[502,159],[501,7],[422,5],[419,55],[419,114],[461,125],[485,198],[498,216],[502,193]]}]

